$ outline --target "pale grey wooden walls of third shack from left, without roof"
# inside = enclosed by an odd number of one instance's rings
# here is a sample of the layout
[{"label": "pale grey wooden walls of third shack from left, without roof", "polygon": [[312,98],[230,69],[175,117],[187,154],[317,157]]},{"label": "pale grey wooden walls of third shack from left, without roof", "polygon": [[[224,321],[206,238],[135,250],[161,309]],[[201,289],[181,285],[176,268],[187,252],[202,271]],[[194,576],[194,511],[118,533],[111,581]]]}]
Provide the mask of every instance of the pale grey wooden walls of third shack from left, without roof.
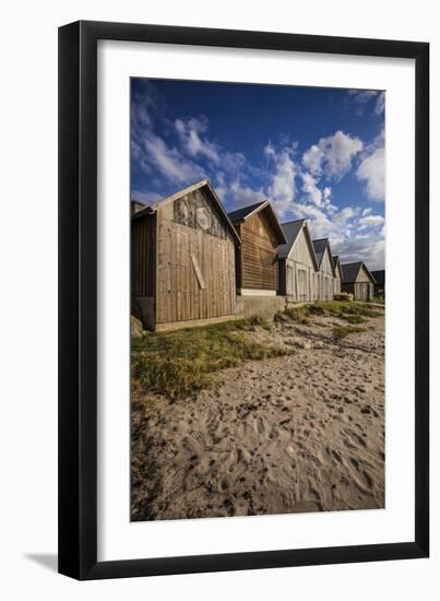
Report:
[{"label": "pale grey wooden walls of third shack from left, without roof", "polygon": [[288,258],[280,261],[280,293],[294,303],[311,302],[316,297],[314,263],[304,229],[298,234]]}]

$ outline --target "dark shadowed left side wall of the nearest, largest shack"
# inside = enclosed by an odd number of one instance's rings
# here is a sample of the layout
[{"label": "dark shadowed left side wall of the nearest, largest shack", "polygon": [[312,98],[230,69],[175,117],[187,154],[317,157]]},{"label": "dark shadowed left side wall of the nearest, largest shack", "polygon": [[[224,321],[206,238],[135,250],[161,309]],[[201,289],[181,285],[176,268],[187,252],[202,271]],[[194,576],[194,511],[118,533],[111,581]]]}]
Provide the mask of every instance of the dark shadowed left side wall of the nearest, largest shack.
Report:
[{"label": "dark shadowed left side wall of the nearest, largest shack", "polygon": [[131,222],[131,296],[152,297],[156,282],[156,216]]}]

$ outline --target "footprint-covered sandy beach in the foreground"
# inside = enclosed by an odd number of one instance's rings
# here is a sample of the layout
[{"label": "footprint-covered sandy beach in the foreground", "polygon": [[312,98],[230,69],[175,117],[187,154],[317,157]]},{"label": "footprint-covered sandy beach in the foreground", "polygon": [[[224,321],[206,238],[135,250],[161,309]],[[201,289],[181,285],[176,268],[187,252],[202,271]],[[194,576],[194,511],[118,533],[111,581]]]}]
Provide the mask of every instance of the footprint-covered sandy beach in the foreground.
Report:
[{"label": "footprint-covered sandy beach in the foreground", "polygon": [[295,354],[215,374],[186,399],[132,396],[132,520],[384,506],[384,317],[247,335]]}]

